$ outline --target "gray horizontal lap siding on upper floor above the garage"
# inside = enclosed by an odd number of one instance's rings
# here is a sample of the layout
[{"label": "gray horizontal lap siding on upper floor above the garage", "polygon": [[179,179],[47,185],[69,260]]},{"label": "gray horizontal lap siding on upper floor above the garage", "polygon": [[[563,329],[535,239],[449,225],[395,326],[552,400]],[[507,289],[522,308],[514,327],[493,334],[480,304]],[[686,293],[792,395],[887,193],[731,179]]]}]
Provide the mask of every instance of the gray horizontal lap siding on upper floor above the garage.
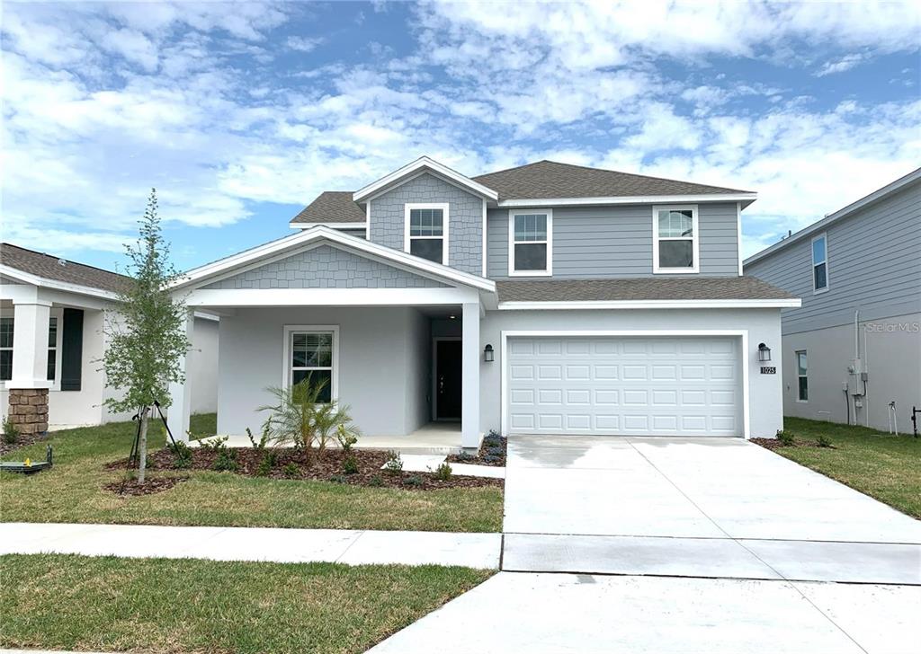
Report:
[{"label": "gray horizontal lap siding on upper floor above the garage", "polygon": [[[736,203],[697,205],[700,275],[739,275]],[[554,279],[652,276],[652,206],[554,208]],[[508,210],[487,214],[488,276],[508,277]]]}]

